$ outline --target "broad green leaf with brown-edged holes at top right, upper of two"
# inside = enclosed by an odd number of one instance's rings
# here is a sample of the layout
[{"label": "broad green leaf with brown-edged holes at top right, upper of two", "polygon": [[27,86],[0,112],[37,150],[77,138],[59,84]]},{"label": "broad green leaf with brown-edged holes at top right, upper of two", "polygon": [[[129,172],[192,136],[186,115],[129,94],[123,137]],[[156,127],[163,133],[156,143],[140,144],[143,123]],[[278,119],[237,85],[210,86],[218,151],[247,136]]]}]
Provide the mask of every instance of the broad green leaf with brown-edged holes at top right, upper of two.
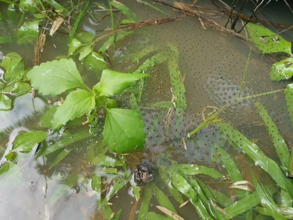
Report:
[{"label": "broad green leaf with brown-edged holes at top right, upper of two", "polygon": [[253,23],[249,23],[247,26],[247,30],[251,36],[251,40],[253,41],[255,46],[263,53],[284,52],[292,55],[291,42],[286,41],[279,35],[274,35],[274,32],[272,32],[265,26]]}]

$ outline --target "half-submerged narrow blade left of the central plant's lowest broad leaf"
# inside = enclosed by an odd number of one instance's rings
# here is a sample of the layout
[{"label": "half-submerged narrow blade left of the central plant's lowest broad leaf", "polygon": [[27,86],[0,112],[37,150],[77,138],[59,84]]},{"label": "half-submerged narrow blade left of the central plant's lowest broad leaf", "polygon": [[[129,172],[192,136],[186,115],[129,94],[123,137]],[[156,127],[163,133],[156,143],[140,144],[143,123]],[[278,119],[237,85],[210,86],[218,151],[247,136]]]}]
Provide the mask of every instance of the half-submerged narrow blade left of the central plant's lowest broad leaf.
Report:
[{"label": "half-submerged narrow blade left of the central plant's lowest broad leaf", "polygon": [[59,149],[66,147],[69,144],[72,144],[76,141],[82,140],[89,136],[90,136],[90,132],[88,132],[88,130],[77,132],[75,134],[66,134],[66,136],[64,135],[62,140],[58,141],[57,143],[47,148],[40,156],[51,154]]}]

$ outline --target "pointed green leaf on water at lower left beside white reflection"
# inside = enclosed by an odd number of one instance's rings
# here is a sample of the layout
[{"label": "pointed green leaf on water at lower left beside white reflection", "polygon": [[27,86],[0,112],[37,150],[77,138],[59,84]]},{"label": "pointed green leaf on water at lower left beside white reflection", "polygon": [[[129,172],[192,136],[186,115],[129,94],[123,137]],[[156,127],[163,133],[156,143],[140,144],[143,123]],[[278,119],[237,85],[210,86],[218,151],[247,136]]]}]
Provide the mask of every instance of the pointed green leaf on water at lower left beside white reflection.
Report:
[{"label": "pointed green leaf on water at lower left beside white reflection", "polygon": [[24,132],[17,135],[14,141],[13,150],[17,150],[20,152],[30,152],[33,150],[36,144],[41,143],[46,137],[48,132],[42,131],[31,131]]}]

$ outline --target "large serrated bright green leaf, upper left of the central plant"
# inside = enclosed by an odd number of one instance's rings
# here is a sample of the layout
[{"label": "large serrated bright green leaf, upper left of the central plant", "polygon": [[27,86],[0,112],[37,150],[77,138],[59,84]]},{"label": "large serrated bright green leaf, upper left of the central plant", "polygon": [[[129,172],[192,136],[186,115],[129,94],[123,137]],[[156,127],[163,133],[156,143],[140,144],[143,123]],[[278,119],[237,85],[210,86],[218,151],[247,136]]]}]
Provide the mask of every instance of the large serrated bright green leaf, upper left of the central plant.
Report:
[{"label": "large serrated bright green leaf, upper left of the central plant", "polygon": [[53,60],[34,66],[27,77],[43,95],[55,96],[70,88],[84,88],[82,77],[72,59]]}]

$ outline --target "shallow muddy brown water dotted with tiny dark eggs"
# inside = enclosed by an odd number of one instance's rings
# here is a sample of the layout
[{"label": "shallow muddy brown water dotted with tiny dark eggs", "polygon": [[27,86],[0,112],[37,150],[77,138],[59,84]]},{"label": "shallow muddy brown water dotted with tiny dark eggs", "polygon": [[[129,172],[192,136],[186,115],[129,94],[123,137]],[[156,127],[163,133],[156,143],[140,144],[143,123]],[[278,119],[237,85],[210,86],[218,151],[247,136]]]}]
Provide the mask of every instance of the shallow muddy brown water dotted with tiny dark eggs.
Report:
[{"label": "shallow muddy brown water dotted with tiny dark eggs", "polygon": [[[91,1],[91,3],[93,2],[94,0]],[[121,2],[142,20],[166,17],[164,14],[139,2],[129,0],[121,0]],[[186,2],[190,3],[188,0]],[[204,0],[198,0],[197,5],[215,8],[211,2]],[[156,6],[170,16],[182,15],[167,6],[159,4],[156,4]],[[98,20],[105,13],[94,12],[95,9],[95,7],[91,7],[92,16]],[[116,21],[125,19],[124,15],[121,15],[123,18],[120,18],[119,13],[114,13],[114,16]],[[225,25],[227,21],[225,16],[216,12],[212,12],[212,15],[204,14],[203,16],[221,25]],[[281,21],[276,19],[276,22]],[[101,30],[110,27],[110,16],[99,23],[95,23],[91,16],[86,15],[79,31],[94,33],[96,37],[99,37],[105,34]],[[245,32],[241,32],[241,34],[245,36]],[[41,62],[52,61],[61,57],[66,58],[68,54],[67,37],[60,32],[52,37],[48,36],[43,48]],[[292,41],[290,34],[285,35],[284,38]],[[101,40],[100,43],[96,44],[94,50],[98,51],[104,41]],[[118,41],[115,48],[111,46],[107,51],[107,56],[111,61],[111,69],[126,73],[129,69],[140,66],[147,58],[161,51],[161,49],[144,56],[139,63],[133,63],[129,55],[148,50],[154,45],[161,48],[174,45],[178,48],[178,66],[184,78],[187,109],[183,112],[183,121],[180,124],[177,122],[175,111],[172,110],[168,116],[166,127],[169,108],[148,107],[154,102],[170,102],[172,100],[172,82],[167,63],[151,68],[147,72],[151,76],[145,80],[140,105],[140,111],[143,115],[142,120],[146,125],[146,144],[142,152],[124,156],[126,158],[126,170],[131,171],[142,158],[146,158],[156,165],[160,163],[169,166],[170,162],[162,159],[168,156],[178,164],[203,165],[214,168],[223,176],[227,176],[227,171],[222,162],[219,163],[213,159],[214,154],[211,149],[216,143],[234,159],[244,180],[252,181],[251,168],[263,184],[274,183],[267,173],[255,166],[247,154],[232,148],[220,135],[216,127],[209,125],[191,138],[183,137],[203,122],[202,113],[205,107],[221,108],[237,98],[251,47],[247,75],[240,96],[250,96],[285,88],[288,81],[272,82],[269,76],[272,63],[280,60],[283,55],[262,54],[250,41],[243,41],[209,27],[204,29],[200,22],[187,16],[178,21],[135,30],[132,35]],[[23,58],[25,67],[33,66],[34,44],[1,44],[0,51],[3,54],[12,51],[17,52]],[[78,61],[78,59],[76,60]],[[79,61],[77,67],[87,86],[92,87],[99,82],[101,72],[97,74],[88,72]],[[130,109],[129,93],[117,95],[116,98],[119,107]],[[25,94],[15,99],[12,110],[0,111],[1,163],[6,161],[4,155],[12,149],[13,142],[19,132],[40,129],[38,122],[46,110],[50,108],[48,100],[54,102],[58,99],[43,96],[39,93],[36,94],[35,98],[32,98],[31,94]],[[280,134],[291,147],[293,144],[292,125],[283,92],[238,101],[225,109],[219,116],[248,139],[253,140],[267,156],[280,164],[266,127],[255,110],[255,101],[260,102],[270,112],[270,116]],[[207,117],[211,111],[212,109],[207,108],[205,116]],[[81,122],[85,120],[84,117]],[[81,128],[72,126],[67,130],[70,133],[65,132],[64,135],[74,136],[74,134],[84,130],[89,130],[89,126],[85,125]],[[16,161],[20,169],[18,171],[12,169],[9,171],[10,173],[8,172],[0,177],[0,219],[105,219],[102,211],[98,210],[97,196],[90,187],[90,183],[83,181],[86,178],[91,181],[92,175],[99,173],[102,169],[101,166],[91,165],[87,161],[89,149],[98,144],[103,145],[101,143],[102,131],[103,124],[98,128],[98,134],[95,138],[88,137],[71,144],[70,154],[52,169],[49,169],[49,167],[60,153],[59,151],[46,156],[36,156],[36,158],[33,152],[19,155]],[[59,133],[50,132],[46,138],[46,144],[43,144],[43,146],[50,147],[60,139],[62,139],[62,136]],[[119,158],[116,154],[109,155]],[[121,168],[121,170],[123,169]],[[110,186],[111,179],[115,179],[115,174],[106,174],[105,177],[105,186]],[[199,175],[198,178],[210,187],[226,194],[229,198],[235,197],[235,192],[229,188],[231,183],[229,178],[213,179],[204,175]],[[74,184],[70,184],[70,181]],[[157,178],[154,184],[169,197],[179,216],[186,220],[200,219],[190,202],[181,208],[179,207],[180,203],[170,196],[165,183],[160,178]],[[128,220],[130,217],[135,220],[139,218],[142,200],[136,201],[130,187],[130,183],[127,183],[108,202],[112,212],[116,213],[122,209],[121,220]],[[143,198],[145,189],[144,186],[141,198]],[[105,187],[104,194],[107,190],[109,188]],[[188,200],[186,197],[183,198],[184,201]],[[156,208],[157,205],[159,203],[153,197],[148,210],[164,215]],[[237,218],[244,219],[245,215]]]}]

